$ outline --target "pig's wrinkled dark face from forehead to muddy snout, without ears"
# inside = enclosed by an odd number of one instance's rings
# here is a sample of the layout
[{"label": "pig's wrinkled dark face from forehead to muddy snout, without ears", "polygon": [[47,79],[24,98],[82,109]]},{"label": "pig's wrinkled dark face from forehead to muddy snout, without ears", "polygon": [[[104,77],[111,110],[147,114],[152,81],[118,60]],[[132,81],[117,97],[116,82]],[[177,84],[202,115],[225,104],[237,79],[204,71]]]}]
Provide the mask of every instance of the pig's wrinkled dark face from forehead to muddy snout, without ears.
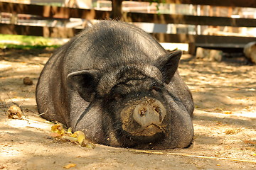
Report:
[{"label": "pig's wrinkled dark face from forehead to muddy snout, without ears", "polygon": [[129,139],[143,142],[168,134],[171,114],[159,69],[133,65],[110,75],[102,77],[98,87],[99,91],[105,91],[101,94],[104,108],[116,130]]}]

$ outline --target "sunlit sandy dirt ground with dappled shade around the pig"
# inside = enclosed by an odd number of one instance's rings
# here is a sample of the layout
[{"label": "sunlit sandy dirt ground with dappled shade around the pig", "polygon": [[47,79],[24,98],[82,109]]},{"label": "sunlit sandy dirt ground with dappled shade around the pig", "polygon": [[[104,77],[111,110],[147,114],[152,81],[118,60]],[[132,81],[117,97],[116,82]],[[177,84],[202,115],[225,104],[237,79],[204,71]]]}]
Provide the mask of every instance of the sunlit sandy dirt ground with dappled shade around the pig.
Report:
[{"label": "sunlit sandy dirt ground with dappled shade around the pig", "polygon": [[[194,142],[188,149],[95,149],[50,137],[35,89],[52,50],[0,51],[0,169],[256,169],[256,66],[184,55],[179,72],[193,93]],[[30,77],[32,86],[23,84]],[[9,119],[13,103],[26,113]]]}]

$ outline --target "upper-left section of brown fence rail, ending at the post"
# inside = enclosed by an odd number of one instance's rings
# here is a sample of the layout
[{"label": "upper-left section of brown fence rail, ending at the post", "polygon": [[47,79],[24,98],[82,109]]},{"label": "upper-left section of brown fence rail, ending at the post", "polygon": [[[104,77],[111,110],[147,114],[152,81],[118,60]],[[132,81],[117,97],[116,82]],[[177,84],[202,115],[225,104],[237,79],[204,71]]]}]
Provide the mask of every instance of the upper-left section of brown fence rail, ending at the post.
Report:
[{"label": "upper-left section of brown fence rail, ending at the post", "polygon": [[68,8],[59,6],[41,6],[32,4],[16,4],[0,2],[0,11],[6,13],[24,13],[49,18],[83,18],[83,19],[107,19],[110,11],[98,11],[94,9]]}]

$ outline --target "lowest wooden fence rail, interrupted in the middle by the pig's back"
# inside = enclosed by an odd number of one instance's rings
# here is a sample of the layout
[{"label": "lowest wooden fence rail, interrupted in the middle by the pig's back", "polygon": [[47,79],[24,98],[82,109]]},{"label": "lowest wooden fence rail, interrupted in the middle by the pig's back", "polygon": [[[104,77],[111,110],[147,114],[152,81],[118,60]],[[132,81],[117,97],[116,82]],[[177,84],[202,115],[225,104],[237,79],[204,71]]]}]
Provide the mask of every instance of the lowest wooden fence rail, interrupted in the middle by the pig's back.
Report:
[{"label": "lowest wooden fence rail, interrupted in the middle by the pig's back", "polygon": [[[1,34],[14,35],[36,35],[51,38],[72,38],[81,30],[75,28],[53,28],[38,26],[18,26],[0,23]],[[256,38],[235,37],[235,36],[215,36],[215,35],[188,35],[188,34],[152,34],[159,42],[179,42],[196,43],[204,47],[242,47],[248,42],[256,41]]]}]

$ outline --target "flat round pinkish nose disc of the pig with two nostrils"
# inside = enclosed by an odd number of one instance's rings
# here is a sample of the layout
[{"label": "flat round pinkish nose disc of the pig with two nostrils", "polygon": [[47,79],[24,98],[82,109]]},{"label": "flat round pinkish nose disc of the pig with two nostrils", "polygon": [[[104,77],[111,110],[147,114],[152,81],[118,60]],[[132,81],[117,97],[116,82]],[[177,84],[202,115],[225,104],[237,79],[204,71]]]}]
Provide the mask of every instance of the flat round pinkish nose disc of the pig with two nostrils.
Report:
[{"label": "flat round pinkish nose disc of the pig with two nostrils", "polygon": [[134,120],[143,128],[149,125],[161,125],[166,115],[166,109],[160,101],[154,98],[146,98],[141,101],[133,113]]}]

